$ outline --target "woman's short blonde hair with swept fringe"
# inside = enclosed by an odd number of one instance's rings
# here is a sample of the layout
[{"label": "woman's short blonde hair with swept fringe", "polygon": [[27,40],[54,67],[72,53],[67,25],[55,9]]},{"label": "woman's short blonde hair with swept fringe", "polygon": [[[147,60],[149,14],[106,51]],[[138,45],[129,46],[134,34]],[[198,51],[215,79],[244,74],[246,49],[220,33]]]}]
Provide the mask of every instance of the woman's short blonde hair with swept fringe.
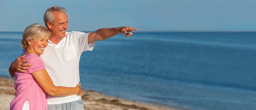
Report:
[{"label": "woman's short blonde hair with swept fringe", "polygon": [[34,40],[36,38],[49,38],[51,36],[51,31],[44,27],[41,26],[38,23],[32,24],[25,28],[23,34],[22,34],[22,40],[21,40],[21,47],[23,49],[27,50],[28,47],[28,42],[27,40]]}]

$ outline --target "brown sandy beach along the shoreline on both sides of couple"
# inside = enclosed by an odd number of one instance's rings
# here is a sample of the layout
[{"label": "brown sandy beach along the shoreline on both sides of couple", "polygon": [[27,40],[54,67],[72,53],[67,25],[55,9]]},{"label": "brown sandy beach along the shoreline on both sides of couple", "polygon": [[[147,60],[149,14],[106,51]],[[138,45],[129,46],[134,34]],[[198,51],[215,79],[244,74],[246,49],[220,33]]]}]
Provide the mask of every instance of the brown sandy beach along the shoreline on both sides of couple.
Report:
[{"label": "brown sandy beach along the shoreline on both sides of couple", "polygon": [[[14,79],[0,77],[0,110],[10,109],[10,103],[15,98],[16,92],[13,84]],[[85,110],[173,110],[152,104],[107,96],[92,90],[83,90],[82,93]]]}]

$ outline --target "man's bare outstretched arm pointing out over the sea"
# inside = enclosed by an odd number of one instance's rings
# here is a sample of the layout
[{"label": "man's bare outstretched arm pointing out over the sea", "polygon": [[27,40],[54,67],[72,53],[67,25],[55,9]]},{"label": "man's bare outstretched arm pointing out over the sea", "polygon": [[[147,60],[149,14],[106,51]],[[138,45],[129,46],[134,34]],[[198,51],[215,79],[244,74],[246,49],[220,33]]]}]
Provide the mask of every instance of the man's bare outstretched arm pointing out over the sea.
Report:
[{"label": "man's bare outstretched arm pointing out over the sea", "polygon": [[122,34],[126,33],[125,37],[129,37],[133,34],[133,30],[137,30],[137,29],[131,28],[131,27],[101,28],[89,34],[88,44],[95,42],[97,40],[105,40],[107,38],[111,38],[112,36],[118,33],[122,33]]}]

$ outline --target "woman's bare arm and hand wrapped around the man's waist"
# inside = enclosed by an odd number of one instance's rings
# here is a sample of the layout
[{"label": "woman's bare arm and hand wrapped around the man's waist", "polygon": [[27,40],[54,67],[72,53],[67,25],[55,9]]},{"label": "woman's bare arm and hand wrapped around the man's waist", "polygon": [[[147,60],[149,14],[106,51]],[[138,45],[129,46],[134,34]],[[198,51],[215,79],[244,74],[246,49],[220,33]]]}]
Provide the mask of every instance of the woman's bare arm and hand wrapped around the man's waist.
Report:
[{"label": "woman's bare arm and hand wrapped around the man's waist", "polygon": [[32,76],[35,78],[40,87],[49,95],[63,97],[76,94],[81,96],[80,84],[76,85],[76,87],[55,86],[46,69],[33,72]]}]

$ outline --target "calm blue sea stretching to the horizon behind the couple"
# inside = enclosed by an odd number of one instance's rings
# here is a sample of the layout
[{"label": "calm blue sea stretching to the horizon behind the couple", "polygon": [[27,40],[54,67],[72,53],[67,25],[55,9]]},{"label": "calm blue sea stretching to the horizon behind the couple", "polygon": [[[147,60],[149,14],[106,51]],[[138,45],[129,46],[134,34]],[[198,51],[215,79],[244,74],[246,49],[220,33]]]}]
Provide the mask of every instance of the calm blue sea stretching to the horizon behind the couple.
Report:
[{"label": "calm blue sea stretching to the horizon behind the couple", "polygon": [[[0,76],[22,54],[0,32]],[[256,32],[134,32],[97,41],[80,59],[84,89],[176,110],[256,110]]]}]

